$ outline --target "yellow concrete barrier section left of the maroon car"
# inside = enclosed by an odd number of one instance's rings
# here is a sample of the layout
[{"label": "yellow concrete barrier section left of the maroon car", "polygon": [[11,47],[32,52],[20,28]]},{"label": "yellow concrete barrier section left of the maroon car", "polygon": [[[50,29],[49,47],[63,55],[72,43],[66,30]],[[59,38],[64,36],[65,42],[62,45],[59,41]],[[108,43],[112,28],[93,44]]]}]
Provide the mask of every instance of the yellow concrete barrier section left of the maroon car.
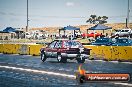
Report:
[{"label": "yellow concrete barrier section left of the maroon car", "polygon": [[43,45],[38,45],[38,44],[0,44],[0,53],[39,56],[41,47],[43,47]]}]

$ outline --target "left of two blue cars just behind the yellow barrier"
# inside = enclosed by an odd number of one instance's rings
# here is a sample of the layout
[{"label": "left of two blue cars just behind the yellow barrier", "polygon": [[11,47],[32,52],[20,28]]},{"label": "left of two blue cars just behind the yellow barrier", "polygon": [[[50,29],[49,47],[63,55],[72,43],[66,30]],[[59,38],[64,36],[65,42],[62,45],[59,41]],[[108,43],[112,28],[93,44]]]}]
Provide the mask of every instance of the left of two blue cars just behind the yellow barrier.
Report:
[{"label": "left of two blue cars just behind the yellow barrier", "polygon": [[113,42],[111,38],[103,37],[103,38],[97,38],[96,41],[92,42],[91,44],[98,45],[98,46],[101,46],[101,45],[110,46],[113,44]]}]

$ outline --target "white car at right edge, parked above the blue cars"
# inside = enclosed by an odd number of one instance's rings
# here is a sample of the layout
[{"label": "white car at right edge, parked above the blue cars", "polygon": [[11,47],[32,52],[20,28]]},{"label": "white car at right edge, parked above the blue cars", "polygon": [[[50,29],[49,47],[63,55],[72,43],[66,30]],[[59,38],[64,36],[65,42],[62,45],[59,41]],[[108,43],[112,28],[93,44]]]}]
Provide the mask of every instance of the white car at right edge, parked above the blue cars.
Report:
[{"label": "white car at right edge, parked above the blue cars", "polygon": [[117,30],[115,33],[112,33],[112,36],[119,36],[119,37],[132,37],[132,29],[121,29]]}]

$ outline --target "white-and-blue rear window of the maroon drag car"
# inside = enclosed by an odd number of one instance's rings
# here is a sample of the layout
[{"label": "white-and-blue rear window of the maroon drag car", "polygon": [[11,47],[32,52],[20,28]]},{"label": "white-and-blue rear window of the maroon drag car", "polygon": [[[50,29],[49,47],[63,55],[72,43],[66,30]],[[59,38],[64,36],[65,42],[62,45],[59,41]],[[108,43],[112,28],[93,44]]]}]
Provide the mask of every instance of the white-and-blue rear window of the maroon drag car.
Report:
[{"label": "white-and-blue rear window of the maroon drag car", "polygon": [[64,41],[65,48],[82,48],[82,44],[76,41]]}]

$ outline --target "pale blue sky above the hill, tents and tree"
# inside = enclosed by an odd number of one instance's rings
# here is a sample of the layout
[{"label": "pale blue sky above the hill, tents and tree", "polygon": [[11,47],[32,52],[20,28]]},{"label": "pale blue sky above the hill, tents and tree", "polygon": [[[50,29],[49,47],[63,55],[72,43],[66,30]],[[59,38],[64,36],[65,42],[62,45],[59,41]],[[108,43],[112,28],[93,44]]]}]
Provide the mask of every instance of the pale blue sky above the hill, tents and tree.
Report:
[{"label": "pale blue sky above the hill, tents and tree", "polygon": [[[90,15],[107,16],[108,23],[125,23],[128,0],[28,0],[29,27],[86,25]],[[0,30],[25,28],[27,0],[0,0]],[[132,0],[130,20],[132,22]]]}]

